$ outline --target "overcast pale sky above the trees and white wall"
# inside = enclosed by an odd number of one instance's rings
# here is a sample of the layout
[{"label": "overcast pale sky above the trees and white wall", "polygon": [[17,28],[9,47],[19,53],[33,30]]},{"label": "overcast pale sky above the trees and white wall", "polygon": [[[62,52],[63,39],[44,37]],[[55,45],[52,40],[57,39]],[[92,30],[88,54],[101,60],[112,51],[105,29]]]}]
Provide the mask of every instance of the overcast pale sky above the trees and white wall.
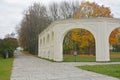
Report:
[{"label": "overcast pale sky above the trees and white wall", "polygon": [[[23,11],[34,2],[41,2],[48,5],[52,2],[64,0],[0,0],[0,38],[8,33],[15,32],[15,27],[20,24],[23,18]],[[75,1],[75,0],[65,0]],[[82,1],[82,0],[79,0]],[[120,18],[120,0],[88,0],[100,5],[110,7],[115,18]]]}]

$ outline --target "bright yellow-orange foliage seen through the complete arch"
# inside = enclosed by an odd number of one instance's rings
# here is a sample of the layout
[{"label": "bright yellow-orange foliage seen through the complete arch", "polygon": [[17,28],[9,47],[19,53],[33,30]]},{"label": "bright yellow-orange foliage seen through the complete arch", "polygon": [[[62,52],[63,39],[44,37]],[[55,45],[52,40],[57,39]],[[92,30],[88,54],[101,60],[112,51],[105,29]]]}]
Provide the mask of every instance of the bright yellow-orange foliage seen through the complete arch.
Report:
[{"label": "bright yellow-orange foliage seen through the complete arch", "polygon": [[80,47],[90,46],[94,43],[94,36],[85,29],[73,29],[71,31],[72,40],[79,43]]}]

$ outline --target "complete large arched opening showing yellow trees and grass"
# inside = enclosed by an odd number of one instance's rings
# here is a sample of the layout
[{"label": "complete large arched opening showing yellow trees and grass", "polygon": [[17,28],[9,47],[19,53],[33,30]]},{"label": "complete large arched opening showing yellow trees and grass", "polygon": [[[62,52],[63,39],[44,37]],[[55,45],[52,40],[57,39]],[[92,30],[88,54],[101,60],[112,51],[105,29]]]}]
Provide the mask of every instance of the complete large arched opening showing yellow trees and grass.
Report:
[{"label": "complete large arched opening showing yellow trees and grass", "polygon": [[95,38],[85,29],[72,29],[63,40],[63,61],[95,61]]}]

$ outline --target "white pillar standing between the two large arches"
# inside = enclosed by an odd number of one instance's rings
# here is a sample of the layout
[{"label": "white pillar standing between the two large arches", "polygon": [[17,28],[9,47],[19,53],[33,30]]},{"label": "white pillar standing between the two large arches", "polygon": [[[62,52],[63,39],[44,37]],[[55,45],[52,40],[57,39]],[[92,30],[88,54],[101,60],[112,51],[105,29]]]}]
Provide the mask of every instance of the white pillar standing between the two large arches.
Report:
[{"label": "white pillar standing between the two large arches", "polygon": [[101,26],[96,33],[96,61],[110,61],[107,27]]}]

